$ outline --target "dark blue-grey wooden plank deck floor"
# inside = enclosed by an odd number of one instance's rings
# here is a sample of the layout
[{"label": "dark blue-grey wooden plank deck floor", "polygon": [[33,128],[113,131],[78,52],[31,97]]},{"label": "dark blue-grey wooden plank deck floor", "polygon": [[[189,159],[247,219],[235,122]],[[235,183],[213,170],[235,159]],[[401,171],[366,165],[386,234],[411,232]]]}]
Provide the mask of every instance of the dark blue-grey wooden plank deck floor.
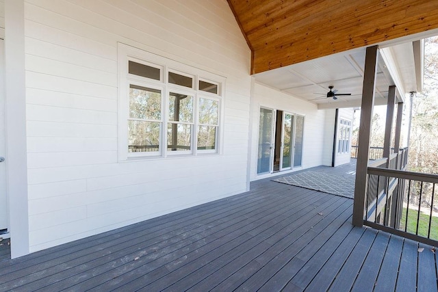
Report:
[{"label": "dark blue-grey wooden plank deck floor", "polygon": [[0,291],[437,291],[431,247],[354,228],[351,199],[251,188],[14,260],[1,245]]}]

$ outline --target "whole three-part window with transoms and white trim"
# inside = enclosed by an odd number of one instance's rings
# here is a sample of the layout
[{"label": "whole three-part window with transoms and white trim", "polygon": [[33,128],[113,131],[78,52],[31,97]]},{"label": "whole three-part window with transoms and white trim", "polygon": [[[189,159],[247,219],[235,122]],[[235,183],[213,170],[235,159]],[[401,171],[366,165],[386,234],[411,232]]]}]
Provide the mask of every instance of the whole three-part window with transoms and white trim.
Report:
[{"label": "whole three-part window with transoms and white trim", "polygon": [[220,152],[224,77],[118,46],[119,159]]}]

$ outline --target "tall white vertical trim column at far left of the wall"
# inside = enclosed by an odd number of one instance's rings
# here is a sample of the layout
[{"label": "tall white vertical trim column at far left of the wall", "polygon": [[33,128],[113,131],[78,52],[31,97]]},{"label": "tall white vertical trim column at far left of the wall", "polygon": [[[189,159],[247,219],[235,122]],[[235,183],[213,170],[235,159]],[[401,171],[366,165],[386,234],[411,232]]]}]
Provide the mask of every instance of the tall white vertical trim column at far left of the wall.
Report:
[{"label": "tall white vertical trim column at far left of the wall", "polygon": [[5,163],[12,258],[29,254],[24,6],[23,0],[5,0]]}]

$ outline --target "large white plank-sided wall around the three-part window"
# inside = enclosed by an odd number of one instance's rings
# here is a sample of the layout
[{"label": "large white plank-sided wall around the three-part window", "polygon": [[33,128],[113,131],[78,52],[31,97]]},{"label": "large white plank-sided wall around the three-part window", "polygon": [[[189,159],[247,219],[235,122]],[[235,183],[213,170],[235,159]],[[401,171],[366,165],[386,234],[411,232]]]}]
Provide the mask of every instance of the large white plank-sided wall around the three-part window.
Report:
[{"label": "large white plank-sided wall around the three-part window", "polygon": [[[117,42],[227,78],[223,155],[118,163]],[[227,1],[26,0],[25,52],[31,252],[246,190],[250,50]]]}]

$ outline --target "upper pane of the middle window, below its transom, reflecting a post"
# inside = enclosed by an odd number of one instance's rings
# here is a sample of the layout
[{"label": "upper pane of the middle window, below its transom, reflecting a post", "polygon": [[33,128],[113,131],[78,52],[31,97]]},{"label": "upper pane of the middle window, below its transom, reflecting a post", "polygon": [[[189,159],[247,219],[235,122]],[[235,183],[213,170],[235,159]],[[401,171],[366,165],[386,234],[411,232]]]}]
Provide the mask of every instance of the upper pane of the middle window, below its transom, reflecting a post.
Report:
[{"label": "upper pane of the middle window, below its transom, reflecting a post", "polygon": [[169,120],[193,122],[193,96],[170,92]]}]

